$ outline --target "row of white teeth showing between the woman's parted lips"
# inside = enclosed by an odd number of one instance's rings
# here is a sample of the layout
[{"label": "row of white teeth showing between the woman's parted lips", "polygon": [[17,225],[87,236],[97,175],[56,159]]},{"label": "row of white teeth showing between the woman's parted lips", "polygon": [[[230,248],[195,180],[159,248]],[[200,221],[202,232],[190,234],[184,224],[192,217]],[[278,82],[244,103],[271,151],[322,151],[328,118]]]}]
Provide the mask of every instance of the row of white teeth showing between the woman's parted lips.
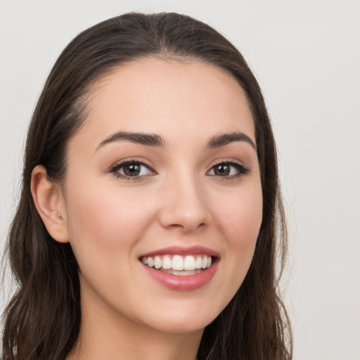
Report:
[{"label": "row of white teeth showing between the woman's parted lips", "polygon": [[140,261],[153,269],[177,276],[195,275],[209,269],[215,258],[199,255],[155,255],[141,257]]}]

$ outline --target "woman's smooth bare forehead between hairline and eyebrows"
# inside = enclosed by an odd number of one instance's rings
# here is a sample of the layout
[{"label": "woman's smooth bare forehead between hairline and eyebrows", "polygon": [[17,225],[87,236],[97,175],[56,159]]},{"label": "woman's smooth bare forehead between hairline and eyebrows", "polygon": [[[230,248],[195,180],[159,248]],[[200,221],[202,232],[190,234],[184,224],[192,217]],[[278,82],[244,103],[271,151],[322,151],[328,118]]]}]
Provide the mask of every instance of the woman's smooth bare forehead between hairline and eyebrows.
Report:
[{"label": "woman's smooth bare forehead between hairline and eyebrows", "polygon": [[146,58],[120,65],[96,82],[87,103],[84,126],[72,140],[86,137],[86,146],[94,148],[115,131],[193,141],[243,131],[255,143],[248,100],[236,79],[196,60]]}]

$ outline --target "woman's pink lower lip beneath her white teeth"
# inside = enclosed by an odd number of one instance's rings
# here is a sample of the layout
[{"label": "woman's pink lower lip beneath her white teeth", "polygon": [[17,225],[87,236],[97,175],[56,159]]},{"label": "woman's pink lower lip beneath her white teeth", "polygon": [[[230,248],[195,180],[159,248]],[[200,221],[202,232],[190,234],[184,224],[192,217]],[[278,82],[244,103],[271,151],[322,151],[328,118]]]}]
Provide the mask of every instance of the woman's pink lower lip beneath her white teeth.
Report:
[{"label": "woman's pink lower lip beneath her white teeth", "polygon": [[198,274],[186,276],[167,274],[147,265],[141,265],[155,281],[165,286],[165,288],[178,291],[190,291],[201,288],[203,285],[209,283],[217,271],[218,263],[218,261],[214,262],[210,268],[205,269]]}]

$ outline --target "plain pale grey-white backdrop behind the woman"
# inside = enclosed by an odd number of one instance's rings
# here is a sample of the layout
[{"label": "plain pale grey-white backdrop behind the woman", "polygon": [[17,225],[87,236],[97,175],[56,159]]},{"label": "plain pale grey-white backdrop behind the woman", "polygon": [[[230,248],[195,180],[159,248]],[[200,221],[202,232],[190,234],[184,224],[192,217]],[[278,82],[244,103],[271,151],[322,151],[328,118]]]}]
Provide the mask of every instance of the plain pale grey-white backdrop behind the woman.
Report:
[{"label": "plain pale grey-white backdrop behind the woman", "polygon": [[24,136],[51,66],[80,31],[127,11],[193,15],[250,63],[278,143],[294,359],[359,360],[359,1],[0,0],[0,250]]}]

